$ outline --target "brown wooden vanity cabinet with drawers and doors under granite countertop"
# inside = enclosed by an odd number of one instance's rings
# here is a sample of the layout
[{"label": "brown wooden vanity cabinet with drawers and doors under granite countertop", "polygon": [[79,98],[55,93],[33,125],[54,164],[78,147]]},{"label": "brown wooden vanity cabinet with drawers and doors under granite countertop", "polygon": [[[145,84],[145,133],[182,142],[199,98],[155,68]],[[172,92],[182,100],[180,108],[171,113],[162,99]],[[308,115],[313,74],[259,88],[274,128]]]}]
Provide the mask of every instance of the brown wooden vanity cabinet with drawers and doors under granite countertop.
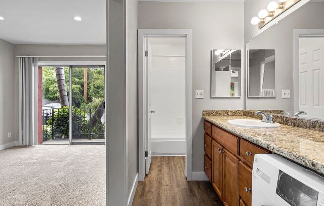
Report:
[{"label": "brown wooden vanity cabinet with drawers and doors under granite countertop", "polygon": [[204,130],[205,173],[217,195],[224,206],[251,206],[254,155],[269,151],[207,121]]}]

